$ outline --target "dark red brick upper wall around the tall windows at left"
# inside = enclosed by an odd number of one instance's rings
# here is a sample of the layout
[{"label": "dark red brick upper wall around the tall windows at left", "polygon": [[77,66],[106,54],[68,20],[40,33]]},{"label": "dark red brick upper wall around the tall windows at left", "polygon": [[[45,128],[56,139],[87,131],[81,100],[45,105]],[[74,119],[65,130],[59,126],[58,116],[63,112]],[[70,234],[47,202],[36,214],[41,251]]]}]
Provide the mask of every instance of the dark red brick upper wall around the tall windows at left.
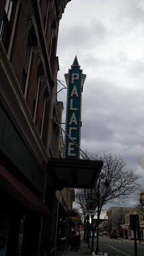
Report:
[{"label": "dark red brick upper wall around the tall windows at left", "polygon": [[[4,13],[4,6],[5,6],[6,0],[1,0],[0,5],[3,6],[3,8],[0,8],[0,23],[3,17]],[[35,5],[36,4],[36,5]],[[42,141],[47,149],[47,153],[51,156],[49,147],[51,144],[51,134],[52,134],[52,120],[51,117],[53,115],[53,105],[55,108],[57,108],[57,100],[56,100],[56,77],[57,77],[57,68],[56,65],[57,60],[55,60],[55,54],[56,54],[56,47],[57,47],[57,36],[58,36],[58,25],[59,21],[57,20],[58,17],[58,5],[56,6],[56,12],[55,12],[55,5],[53,7],[51,6],[52,2],[49,2],[49,12],[48,12],[48,19],[47,19],[47,32],[45,35],[46,45],[47,45],[47,52],[49,50],[49,43],[51,39],[51,29],[52,29],[52,22],[53,18],[55,18],[57,23],[56,27],[56,37],[53,37],[53,44],[51,45],[51,56],[50,56],[50,63],[51,66],[48,66],[49,69],[47,69],[47,59],[45,56],[45,51],[43,50],[43,34],[41,33],[41,30],[39,31],[39,27],[44,26],[44,16],[46,16],[47,11],[47,0],[41,0],[41,4],[39,5],[38,1],[23,1],[22,4],[19,4],[18,9],[18,15],[17,15],[17,21],[14,31],[14,37],[13,37],[13,43],[11,48],[11,54],[10,54],[10,62],[12,65],[12,68],[14,70],[14,73],[16,75],[17,81],[19,83],[19,86],[21,85],[22,81],[22,72],[23,72],[23,64],[24,64],[24,58],[25,58],[25,51],[27,46],[27,39],[29,34],[28,29],[28,22],[29,18],[33,17],[33,19],[36,22],[37,25],[37,37],[39,39],[39,47],[33,48],[32,57],[31,57],[31,64],[30,64],[30,73],[29,73],[29,79],[28,79],[28,85],[27,85],[27,94],[26,94],[26,102],[27,106],[30,110],[30,113],[32,114],[32,108],[33,108],[33,98],[35,93],[35,86],[36,86],[36,76],[38,71],[38,64],[37,64],[37,58],[39,55],[42,55],[44,61],[45,61],[45,75],[44,79],[42,80],[42,83],[39,86],[39,95],[38,95],[38,102],[37,102],[37,111],[36,111],[36,119],[35,119],[35,125],[37,127],[38,133],[40,133],[40,123],[41,123],[41,113],[42,113],[42,107],[43,107],[43,99],[44,99],[44,81],[48,80],[50,84],[50,99],[49,102],[45,104],[45,116],[44,116],[44,122],[43,122],[43,132],[42,132]],[[54,2],[55,4],[55,2]],[[37,12],[35,11],[35,6],[37,7]],[[38,15],[39,17],[38,17]],[[40,13],[40,14],[39,14]],[[56,14],[56,15],[55,15]],[[42,23],[39,22],[42,20]],[[55,28],[54,28],[55,29]],[[52,70],[52,75],[49,75],[49,71]],[[51,85],[51,77],[53,77],[53,84]],[[54,103],[55,102],[55,103]],[[58,111],[56,110],[56,113],[58,114]],[[57,116],[58,118],[58,116]],[[55,138],[56,139],[56,138]],[[58,142],[55,141],[55,145],[58,148]],[[54,150],[54,154],[57,156],[57,151]]]}]

